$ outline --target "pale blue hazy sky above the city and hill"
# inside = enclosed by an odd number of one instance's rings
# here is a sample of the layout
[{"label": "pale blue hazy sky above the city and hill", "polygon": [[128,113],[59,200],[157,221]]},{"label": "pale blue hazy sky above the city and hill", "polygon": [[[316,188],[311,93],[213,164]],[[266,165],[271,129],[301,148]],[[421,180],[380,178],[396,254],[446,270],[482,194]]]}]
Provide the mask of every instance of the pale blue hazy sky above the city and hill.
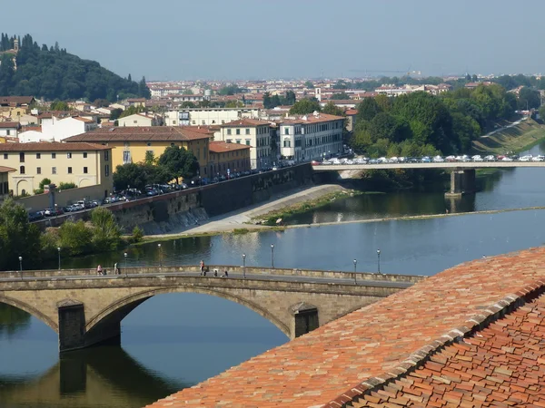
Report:
[{"label": "pale blue hazy sky above the city and hill", "polygon": [[148,80],[545,72],[543,0],[2,3],[0,31]]}]

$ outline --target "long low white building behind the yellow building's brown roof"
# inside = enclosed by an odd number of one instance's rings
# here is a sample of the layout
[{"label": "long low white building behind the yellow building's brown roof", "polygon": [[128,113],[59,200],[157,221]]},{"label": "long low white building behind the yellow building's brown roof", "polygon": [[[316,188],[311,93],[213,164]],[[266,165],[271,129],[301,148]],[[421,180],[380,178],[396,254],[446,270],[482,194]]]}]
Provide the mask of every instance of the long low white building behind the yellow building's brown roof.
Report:
[{"label": "long low white building behind the yellow building's brown roof", "polygon": [[249,108],[187,108],[166,112],[166,126],[212,126],[236,121],[237,119],[255,119],[258,109]]}]

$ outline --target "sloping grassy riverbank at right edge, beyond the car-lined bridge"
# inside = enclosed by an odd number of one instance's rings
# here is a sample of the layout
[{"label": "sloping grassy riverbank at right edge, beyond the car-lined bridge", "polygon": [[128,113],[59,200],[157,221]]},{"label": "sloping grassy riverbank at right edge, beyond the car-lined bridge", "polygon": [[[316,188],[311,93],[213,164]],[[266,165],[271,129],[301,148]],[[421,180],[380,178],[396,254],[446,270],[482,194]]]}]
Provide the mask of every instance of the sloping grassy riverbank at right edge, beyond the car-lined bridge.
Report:
[{"label": "sloping grassy riverbank at right edge, beyond the car-lined bridge", "polygon": [[488,137],[473,141],[472,154],[504,154],[527,151],[545,139],[545,125],[531,119]]}]

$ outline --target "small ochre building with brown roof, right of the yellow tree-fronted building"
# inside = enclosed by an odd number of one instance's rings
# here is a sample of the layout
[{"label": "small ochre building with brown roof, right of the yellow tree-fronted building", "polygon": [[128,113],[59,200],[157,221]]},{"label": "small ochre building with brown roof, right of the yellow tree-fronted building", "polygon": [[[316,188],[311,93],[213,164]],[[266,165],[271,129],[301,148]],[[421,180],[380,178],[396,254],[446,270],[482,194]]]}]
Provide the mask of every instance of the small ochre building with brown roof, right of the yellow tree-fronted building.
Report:
[{"label": "small ochre building with brown roof, right of the yellow tree-fronted building", "polygon": [[225,141],[210,142],[210,160],[208,174],[210,177],[229,175],[252,168],[250,151],[253,148],[245,144],[227,143]]}]

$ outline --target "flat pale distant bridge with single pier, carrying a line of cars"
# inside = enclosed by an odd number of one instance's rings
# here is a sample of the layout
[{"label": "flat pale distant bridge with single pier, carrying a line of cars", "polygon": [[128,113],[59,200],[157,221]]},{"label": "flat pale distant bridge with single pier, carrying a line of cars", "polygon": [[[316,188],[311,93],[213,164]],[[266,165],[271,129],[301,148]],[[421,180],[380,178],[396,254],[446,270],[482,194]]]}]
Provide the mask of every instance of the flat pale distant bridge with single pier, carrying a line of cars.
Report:
[{"label": "flat pale distant bridge with single pier, carrying a line of cars", "polygon": [[316,172],[345,170],[452,170],[451,189],[445,195],[458,197],[475,192],[476,169],[545,168],[545,161],[444,161],[442,163],[326,164],[312,166]]}]

